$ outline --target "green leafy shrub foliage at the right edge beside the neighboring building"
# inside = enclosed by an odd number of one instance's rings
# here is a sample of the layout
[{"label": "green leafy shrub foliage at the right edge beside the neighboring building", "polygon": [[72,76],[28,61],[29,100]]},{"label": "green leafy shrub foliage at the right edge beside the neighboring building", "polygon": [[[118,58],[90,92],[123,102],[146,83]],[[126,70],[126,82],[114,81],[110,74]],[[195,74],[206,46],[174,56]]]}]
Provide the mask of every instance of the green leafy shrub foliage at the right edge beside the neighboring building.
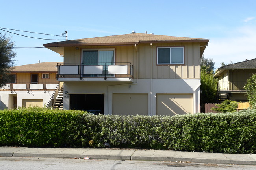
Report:
[{"label": "green leafy shrub foliage at the right edge beside the neighboring building", "polygon": [[245,83],[247,90],[247,100],[252,108],[256,108],[256,74],[252,74]]}]

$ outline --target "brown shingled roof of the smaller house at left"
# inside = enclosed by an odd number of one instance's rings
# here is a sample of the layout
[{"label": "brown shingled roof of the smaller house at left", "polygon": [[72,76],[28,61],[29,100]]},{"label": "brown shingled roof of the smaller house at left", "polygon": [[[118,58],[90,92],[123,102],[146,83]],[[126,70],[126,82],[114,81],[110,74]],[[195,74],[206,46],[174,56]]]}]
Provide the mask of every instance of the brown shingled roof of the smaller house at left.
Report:
[{"label": "brown shingled roof of the smaller house at left", "polygon": [[15,66],[11,70],[11,73],[20,72],[57,72],[58,62],[41,62],[36,64],[27,64],[22,66]]}]

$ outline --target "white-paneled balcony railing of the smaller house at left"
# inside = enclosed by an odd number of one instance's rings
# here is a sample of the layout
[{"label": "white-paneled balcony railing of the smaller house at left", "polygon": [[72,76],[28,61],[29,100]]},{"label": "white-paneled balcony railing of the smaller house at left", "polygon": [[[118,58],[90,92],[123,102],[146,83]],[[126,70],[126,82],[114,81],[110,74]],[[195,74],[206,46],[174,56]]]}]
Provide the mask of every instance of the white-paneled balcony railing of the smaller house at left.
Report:
[{"label": "white-paneled balcony railing of the smaller house at left", "polygon": [[46,91],[55,90],[58,83],[6,83],[0,88],[1,91]]}]

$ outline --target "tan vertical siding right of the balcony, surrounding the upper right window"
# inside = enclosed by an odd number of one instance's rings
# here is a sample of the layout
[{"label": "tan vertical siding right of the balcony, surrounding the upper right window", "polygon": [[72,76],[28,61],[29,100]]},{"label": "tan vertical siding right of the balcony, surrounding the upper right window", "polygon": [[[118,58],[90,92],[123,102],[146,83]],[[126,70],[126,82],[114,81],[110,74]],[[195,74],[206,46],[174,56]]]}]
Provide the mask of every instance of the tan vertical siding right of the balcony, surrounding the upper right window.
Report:
[{"label": "tan vertical siding right of the balcony, surrounding the upper right window", "polygon": [[[184,65],[157,65],[157,47],[184,46]],[[200,79],[200,47],[198,43],[139,44],[139,79]],[[149,51],[149,53],[148,53]],[[152,51],[152,53],[150,53]],[[152,61],[152,62],[150,62]]]}]

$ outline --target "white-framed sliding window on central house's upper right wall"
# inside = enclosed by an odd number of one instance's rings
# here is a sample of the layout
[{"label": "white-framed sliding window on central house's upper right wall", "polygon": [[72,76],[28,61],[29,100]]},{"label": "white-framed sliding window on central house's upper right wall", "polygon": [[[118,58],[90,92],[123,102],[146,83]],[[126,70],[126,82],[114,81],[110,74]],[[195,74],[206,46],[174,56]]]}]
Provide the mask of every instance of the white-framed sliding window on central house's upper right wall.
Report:
[{"label": "white-framed sliding window on central house's upper right wall", "polygon": [[157,64],[184,64],[184,47],[158,47]]}]

